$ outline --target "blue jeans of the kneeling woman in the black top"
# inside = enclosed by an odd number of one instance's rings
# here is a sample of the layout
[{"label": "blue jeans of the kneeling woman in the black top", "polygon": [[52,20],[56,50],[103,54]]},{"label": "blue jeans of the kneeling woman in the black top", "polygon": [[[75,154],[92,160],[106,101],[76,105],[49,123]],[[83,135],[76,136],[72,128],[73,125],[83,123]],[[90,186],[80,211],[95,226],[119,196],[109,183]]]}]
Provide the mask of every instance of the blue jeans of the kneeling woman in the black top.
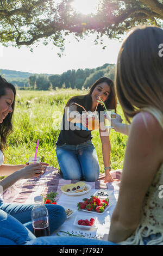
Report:
[{"label": "blue jeans of the kneeling woman in the black top", "polygon": [[78,145],[57,145],[56,154],[65,180],[84,179],[91,182],[98,179],[98,157],[91,141]]}]

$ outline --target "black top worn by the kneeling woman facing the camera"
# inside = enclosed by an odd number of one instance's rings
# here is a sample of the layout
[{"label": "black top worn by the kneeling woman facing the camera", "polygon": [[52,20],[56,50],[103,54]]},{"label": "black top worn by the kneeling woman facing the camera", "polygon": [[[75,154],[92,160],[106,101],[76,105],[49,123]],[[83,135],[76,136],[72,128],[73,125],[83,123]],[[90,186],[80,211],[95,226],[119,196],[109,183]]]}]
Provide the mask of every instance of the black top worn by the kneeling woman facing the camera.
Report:
[{"label": "black top worn by the kneeling woman facing the camera", "polygon": [[[70,103],[72,103],[72,102],[76,102],[79,105],[83,106],[86,109],[86,111],[91,111],[90,98],[88,95],[77,96],[75,99],[70,100]],[[80,114],[82,114],[84,109],[82,107],[77,106],[77,111]],[[99,104],[97,107],[99,120],[101,120],[101,118],[100,118],[101,111],[104,111],[104,107]],[[103,118],[104,118],[104,116],[103,116]],[[81,144],[81,143],[84,143],[84,142],[92,139],[91,131],[89,131],[87,129],[83,130],[82,124],[73,124],[73,126],[74,126],[73,130],[70,129],[70,124],[72,127],[72,123],[67,120],[67,116],[66,116],[66,113],[64,110],[64,115],[62,117],[61,131],[59,133],[56,145],[62,145],[65,143],[70,144],[70,145],[77,145],[77,144]]]}]

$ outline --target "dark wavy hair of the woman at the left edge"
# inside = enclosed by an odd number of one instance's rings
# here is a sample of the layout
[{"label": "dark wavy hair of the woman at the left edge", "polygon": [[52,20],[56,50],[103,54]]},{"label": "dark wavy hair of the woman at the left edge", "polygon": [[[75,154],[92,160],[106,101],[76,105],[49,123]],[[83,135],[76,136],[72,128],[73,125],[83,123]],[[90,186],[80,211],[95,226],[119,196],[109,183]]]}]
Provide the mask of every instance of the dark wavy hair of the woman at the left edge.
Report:
[{"label": "dark wavy hair of the woman at the left edge", "polygon": [[5,147],[7,147],[7,138],[10,135],[12,130],[13,123],[13,113],[15,106],[15,95],[16,89],[13,84],[8,83],[3,77],[0,76],[0,99],[2,96],[6,95],[6,89],[11,89],[14,93],[14,101],[12,102],[12,113],[8,113],[7,117],[3,120],[3,123],[0,124],[0,150],[3,151]]}]

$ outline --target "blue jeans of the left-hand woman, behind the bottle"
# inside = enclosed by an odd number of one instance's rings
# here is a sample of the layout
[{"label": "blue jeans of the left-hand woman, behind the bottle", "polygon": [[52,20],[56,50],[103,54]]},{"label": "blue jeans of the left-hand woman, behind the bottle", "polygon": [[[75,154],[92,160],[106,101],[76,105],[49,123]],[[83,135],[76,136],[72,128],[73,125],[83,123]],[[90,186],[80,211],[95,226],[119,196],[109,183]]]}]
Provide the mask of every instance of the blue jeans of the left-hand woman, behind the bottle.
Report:
[{"label": "blue jeans of the left-hand woman, behind the bottle", "polygon": [[[0,245],[24,245],[35,239],[31,221],[33,204],[8,204],[0,202]],[[65,209],[60,205],[46,204],[50,232],[58,229],[66,220]],[[10,243],[9,243],[9,241]]]}]

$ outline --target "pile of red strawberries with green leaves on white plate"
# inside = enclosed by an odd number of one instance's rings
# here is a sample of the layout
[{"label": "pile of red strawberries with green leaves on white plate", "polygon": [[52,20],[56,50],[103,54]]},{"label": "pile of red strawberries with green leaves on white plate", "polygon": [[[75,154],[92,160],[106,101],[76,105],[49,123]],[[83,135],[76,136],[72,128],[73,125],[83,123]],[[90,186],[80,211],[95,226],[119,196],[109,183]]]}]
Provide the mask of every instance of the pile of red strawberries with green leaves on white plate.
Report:
[{"label": "pile of red strawberries with green leaves on white plate", "polygon": [[97,196],[90,196],[90,198],[83,198],[82,202],[77,203],[78,211],[93,212],[96,214],[103,214],[109,206],[108,197],[101,199]]}]

